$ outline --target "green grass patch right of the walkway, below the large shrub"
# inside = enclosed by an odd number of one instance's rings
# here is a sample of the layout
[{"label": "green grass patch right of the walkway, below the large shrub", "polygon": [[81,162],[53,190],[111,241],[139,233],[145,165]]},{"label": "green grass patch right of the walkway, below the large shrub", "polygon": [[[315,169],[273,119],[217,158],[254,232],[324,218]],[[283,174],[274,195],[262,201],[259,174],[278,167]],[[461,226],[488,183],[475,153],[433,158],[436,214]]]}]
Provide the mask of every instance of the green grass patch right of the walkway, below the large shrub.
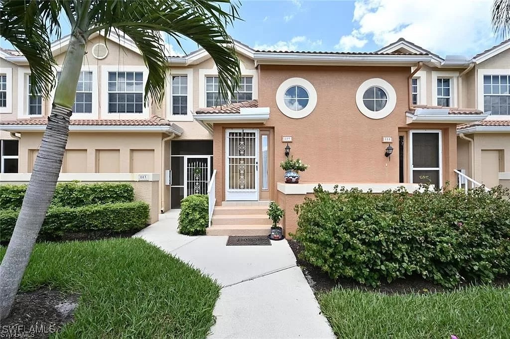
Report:
[{"label": "green grass patch right of the walkway, below the large shrub", "polygon": [[335,289],[318,296],[339,338],[508,338],[510,286],[383,295]]}]

